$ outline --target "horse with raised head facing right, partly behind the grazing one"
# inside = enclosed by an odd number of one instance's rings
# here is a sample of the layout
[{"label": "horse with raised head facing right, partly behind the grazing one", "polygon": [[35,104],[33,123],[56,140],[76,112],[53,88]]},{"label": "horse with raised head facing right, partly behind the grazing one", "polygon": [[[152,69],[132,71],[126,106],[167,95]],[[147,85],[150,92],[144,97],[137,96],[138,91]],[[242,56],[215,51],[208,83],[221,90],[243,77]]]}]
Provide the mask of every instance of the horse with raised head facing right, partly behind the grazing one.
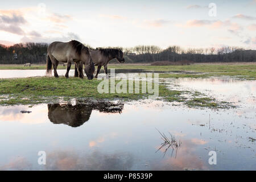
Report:
[{"label": "horse with raised head facing right, partly behind the grazing one", "polygon": [[[98,77],[98,73],[100,72],[102,66],[104,66],[106,78],[108,78],[108,64],[110,60],[115,58],[119,63],[125,62],[122,49],[96,48],[96,50],[90,50],[90,54],[92,55],[94,65],[98,66],[95,76],[96,78]],[[75,65],[75,77],[78,76],[77,67]]]}]

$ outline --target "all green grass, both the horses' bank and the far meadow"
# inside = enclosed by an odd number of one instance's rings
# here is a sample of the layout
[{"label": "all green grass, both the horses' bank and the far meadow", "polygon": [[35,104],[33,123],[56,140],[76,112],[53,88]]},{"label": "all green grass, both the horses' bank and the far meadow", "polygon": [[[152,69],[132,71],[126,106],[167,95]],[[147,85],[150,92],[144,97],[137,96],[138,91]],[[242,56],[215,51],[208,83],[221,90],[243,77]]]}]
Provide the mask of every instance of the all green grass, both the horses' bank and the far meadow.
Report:
[{"label": "all green grass, both the horses' bank and the far meadow", "polygon": [[[72,67],[74,67],[72,65]],[[0,69],[45,69],[46,65],[0,65]],[[59,69],[65,69],[59,65]],[[152,66],[142,64],[110,64],[115,69],[144,69],[146,71],[166,71],[160,73],[162,78],[179,77],[209,77],[209,76],[236,76],[238,78],[255,80],[256,64],[193,64]],[[179,73],[181,72],[181,73]],[[200,74],[199,74],[200,73]],[[117,84],[119,81],[115,81]],[[57,102],[60,99],[93,98],[93,99],[122,99],[139,100],[148,97],[148,93],[104,93],[97,92],[100,81],[80,78],[64,77],[31,77],[0,79],[0,105],[39,104]],[[141,84],[141,83],[140,83]],[[128,86],[128,85],[127,85]],[[141,85],[139,86],[141,89]],[[187,94],[187,96],[184,96]],[[230,104],[218,102],[214,98],[204,96],[199,92],[178,91],[167,89],[164,83],[159,85],[159,98],[167,102],[181,102],[188,107],[226,108]]]}]

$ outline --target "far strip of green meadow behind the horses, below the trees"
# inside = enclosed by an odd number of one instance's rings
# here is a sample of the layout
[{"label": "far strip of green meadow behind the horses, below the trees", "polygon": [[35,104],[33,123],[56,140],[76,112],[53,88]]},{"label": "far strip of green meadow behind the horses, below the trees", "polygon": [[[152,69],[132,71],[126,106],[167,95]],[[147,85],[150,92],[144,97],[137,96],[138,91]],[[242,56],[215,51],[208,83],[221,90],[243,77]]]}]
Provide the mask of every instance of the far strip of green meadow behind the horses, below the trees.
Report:
[{"label": "far strip of green meadow behind the horses, below the trees", "polygon": [[[58,69],[66,69],[59,65]],[[236,76],[247,80],[256,79],[255,63],[230,63],[230,64],[192,64],[192,65],[167,65],[151,66],[142,64],[110,64],[110,68],[115,69],[143,69],[146,71],[164,71],[172,73],[161,73],[160,77],[209,77],[209,76]],[[0,69],[46,69],[46,65],[0,65]],[[72,65],[74,69],[74,65]],[[103,70],[103,69],[102,69]]]}]

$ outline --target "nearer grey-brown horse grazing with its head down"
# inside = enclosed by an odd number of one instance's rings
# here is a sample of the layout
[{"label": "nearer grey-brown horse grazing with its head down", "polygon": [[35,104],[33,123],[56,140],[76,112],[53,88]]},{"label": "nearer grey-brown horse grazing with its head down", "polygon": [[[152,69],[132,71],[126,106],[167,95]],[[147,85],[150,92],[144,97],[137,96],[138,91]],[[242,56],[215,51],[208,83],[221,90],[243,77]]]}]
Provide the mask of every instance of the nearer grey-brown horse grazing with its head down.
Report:
[{"label": "nearer grey-brown horse grazing with its head down", "polygon": [[53,42],[49,44],[47,49],[46,75],[51,75],[53,65],[54,76],[59,77],[57,74],[57,66],[59,62],[67,63],[67,72],[65,74],[66,78],[68,78],[71,63],[75,62],[75,65],[78,68],[77,75],[80,78],[84,77],[84,74],[82,73],[82,65],[84,64],[85,74],[89,80],[92,80],[93,73],[95,71],[92,56],[90,55],[89,48],[85,47],[84,44],[77,40],[72,40],[71,42]]}]

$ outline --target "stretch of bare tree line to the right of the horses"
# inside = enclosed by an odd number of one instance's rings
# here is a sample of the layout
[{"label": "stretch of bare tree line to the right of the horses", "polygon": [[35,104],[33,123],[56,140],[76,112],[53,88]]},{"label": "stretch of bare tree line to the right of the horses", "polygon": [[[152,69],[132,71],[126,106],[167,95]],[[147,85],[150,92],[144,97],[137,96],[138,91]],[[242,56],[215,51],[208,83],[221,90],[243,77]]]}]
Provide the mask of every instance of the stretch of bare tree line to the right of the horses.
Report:
[{"label": "stretch of bare tree line to the right of the horses", "polygon": [[191,61],[195,63],[206,62],[242,62],[256,61],[256,50],[240,47],[225,46],[221,48],[188,48],[170,46],[161,49],[158,46],[135,46],[125,48],[127,57],[134,62],[154,62],[154,61]]}]

